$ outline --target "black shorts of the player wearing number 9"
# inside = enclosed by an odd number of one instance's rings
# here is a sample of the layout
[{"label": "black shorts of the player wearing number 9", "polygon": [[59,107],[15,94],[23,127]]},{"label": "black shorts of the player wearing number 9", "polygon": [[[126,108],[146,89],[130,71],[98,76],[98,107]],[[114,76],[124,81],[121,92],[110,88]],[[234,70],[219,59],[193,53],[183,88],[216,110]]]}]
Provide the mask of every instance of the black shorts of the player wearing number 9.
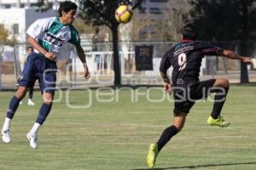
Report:
[{"label": "black shorts of the player wearing number 9", "polygon": [[179,113],[188,114],[196,100],[207,99],[215,81],[216,79],[202,82],[189,82],[187,86],[174,87],[174,116],[177,116]]}]

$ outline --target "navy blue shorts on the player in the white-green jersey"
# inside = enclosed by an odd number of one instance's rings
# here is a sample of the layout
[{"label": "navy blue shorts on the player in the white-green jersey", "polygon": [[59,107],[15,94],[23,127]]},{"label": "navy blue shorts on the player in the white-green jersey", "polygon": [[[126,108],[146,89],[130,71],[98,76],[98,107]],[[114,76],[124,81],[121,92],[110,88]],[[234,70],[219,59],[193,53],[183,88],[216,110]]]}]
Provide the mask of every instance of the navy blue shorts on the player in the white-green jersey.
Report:
[{"label": "navy blue shorts on the player in the white-green jersey", "polygon": [[27,56],[26,64],[18,79],[21,87],[32,88],[38,79],[42,93],[55,93],[57,66],[55,61],[46,59],[43,55],[33,53]]}]

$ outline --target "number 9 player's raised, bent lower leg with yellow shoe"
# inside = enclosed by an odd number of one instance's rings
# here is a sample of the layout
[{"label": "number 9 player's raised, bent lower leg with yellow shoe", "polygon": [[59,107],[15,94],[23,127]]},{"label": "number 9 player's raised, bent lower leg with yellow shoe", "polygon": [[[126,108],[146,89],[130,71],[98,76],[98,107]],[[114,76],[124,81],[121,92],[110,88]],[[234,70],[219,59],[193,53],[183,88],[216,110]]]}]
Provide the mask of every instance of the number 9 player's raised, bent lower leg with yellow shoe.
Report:
[{"label": "number 9 player's raised, bent lower leg with yellow shoe", "polygon": [[230,83],[225,78],[218,78],[212,88],[212,92],[216,93],[214,97],[214,104],[212,108],[211,116],[208,117],[207,123],[212,126],[228,127],[230,122],[224,121],[223,117],[220,116],[223,105],[226,100],[226,96],[229,92]]}]

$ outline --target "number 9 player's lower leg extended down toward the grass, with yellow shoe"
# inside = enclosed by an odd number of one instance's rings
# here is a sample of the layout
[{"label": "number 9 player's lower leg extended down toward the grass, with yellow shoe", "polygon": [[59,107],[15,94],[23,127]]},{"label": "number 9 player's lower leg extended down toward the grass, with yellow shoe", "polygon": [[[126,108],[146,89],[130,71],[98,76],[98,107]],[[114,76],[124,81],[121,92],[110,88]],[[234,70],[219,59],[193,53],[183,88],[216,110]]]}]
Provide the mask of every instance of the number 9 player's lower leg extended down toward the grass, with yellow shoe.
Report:
[{"label": "number 9 player's lower leg extended down toward the grass, with yellow shoe", "polygon": [[148,167],[154,167],[156,157],[160,150],[172,139],[174,135],[180,132],[186,120],[187,113],[178,113],[174,116],[172,126],[166,127],[156,144],[150,144],[147,156]]}]

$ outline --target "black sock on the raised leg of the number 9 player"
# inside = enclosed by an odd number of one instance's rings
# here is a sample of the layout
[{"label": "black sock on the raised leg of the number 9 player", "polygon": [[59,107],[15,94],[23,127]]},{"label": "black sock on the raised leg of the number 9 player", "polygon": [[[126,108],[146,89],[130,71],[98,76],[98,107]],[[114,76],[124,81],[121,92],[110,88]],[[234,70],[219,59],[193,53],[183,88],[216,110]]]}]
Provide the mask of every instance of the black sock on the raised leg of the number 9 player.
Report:
[{"label": "black sock on the raised leg of the number 9 player", "polygon": [[229,92],[229,88],[223,88],[223,89],[224,90],[218,89],[216,91],[217,94],[215,94],[214,104],[213,104],[212,114],[211,114],[213,119],[217,119],[218,116],[220,115],[220,112],[221,112],[222,107],[223,107],[223,105],[225,103],[225,100],[226,100],[226,96]]}]

